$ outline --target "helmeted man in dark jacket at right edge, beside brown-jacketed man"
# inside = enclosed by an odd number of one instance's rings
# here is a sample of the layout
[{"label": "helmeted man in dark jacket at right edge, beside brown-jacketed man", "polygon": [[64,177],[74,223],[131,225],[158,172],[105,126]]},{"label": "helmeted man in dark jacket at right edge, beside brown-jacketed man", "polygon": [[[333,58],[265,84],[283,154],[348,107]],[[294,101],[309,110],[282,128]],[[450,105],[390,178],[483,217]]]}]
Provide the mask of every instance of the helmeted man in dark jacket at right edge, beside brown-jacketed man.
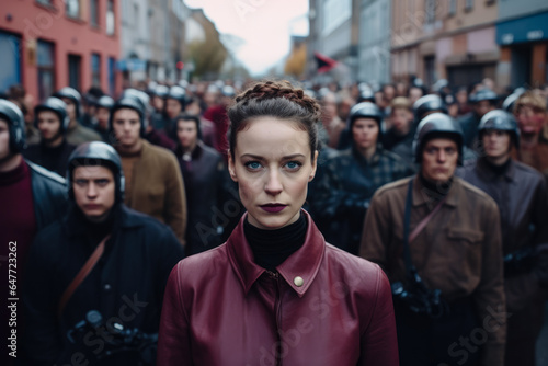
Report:
[{"label": "helmeted man in dark jacket at right edge, beside brown-jacketed man", "polygon": [[505,366],[534,366],[548,285],[548,198],[543,175],[510,157],[520,147],[514,117],[491,111],[481,118],[484,156],[459,171],[489,194],[501,214],[509,319]]}]

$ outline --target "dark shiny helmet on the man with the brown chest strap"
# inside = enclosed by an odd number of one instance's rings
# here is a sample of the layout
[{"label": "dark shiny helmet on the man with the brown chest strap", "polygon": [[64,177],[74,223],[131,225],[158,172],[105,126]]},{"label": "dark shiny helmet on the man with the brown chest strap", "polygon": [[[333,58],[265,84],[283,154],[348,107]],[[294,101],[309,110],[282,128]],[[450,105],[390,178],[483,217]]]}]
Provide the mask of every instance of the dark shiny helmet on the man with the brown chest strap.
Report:
[{"label": "dark shiny helmet on the man with the brown chest strap", "polygon": [[79,145],[69,157],[67,169],[67,188],[70,199],[75,199],[72,191],[72,172],[78,167],[105,167],[114,174],[116,184],[116,203],[124,202],[125,180],[122,170],[122,159],[116,150],[102,141],[84,142]]}]

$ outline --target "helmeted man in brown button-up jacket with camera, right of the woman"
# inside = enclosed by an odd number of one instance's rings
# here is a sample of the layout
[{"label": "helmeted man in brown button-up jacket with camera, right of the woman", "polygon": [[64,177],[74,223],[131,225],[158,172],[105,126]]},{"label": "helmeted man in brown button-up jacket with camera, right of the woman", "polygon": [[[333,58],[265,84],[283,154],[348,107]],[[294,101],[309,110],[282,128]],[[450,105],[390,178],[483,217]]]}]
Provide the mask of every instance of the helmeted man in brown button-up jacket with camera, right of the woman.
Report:
[{"label": "helmeted man in brown button-up jacket with camera, right of the woman", "polygon": [[454,176],[463,145],[453,118],[424,117],[413,144],[420,173],[378,190],[365,219],[361,256],[392,284],[401,366],[504,363],[499,210]]}]

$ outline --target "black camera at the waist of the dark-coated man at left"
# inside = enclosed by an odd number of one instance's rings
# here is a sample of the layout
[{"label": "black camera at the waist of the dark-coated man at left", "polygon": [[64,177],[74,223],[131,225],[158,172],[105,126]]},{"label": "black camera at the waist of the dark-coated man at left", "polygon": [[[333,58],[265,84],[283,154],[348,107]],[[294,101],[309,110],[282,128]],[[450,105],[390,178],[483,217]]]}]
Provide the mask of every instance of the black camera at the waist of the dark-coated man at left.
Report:
[{"label": "black camera at the waist of the dark-coated man at left", "polygon": [[109,358],[128,358],[136,366],[156,364],[158,333],[145,333],[137,328],[126,329],[114,321],[104,321],[96,310],[90,310],[85,319],[67,332],[75,347],[83,351],[92,364],[101,364]]}]

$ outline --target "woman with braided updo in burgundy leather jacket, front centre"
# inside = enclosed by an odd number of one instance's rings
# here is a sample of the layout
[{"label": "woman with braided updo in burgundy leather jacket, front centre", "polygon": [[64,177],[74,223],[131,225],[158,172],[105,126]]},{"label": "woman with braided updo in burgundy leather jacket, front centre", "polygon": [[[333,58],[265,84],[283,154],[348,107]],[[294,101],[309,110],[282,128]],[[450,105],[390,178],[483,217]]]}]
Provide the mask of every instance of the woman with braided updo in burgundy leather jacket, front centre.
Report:
[{"label": "woman with braided updo in burgundy leather jacket, front centre", "polygon": [[326,243],[301,209],[317,102],[288,82],[260,82],[228,116],[229,172],[247,214],[225,244],[173,268],[157,364],[398,365],[387,277]]}]

